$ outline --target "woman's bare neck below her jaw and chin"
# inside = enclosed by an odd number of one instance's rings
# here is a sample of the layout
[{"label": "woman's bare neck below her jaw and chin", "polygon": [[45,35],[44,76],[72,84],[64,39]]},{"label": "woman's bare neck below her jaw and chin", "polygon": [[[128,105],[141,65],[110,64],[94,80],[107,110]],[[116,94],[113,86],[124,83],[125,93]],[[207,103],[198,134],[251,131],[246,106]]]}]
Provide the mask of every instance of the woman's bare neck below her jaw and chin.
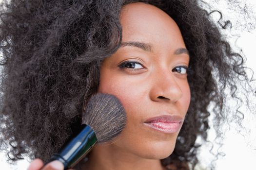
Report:
[{"label": "woman's bare neck below her jaw and chin", "polygon": [[83,170],[164,170],[158,159],[144,159],[115,145],[96,145]]}]

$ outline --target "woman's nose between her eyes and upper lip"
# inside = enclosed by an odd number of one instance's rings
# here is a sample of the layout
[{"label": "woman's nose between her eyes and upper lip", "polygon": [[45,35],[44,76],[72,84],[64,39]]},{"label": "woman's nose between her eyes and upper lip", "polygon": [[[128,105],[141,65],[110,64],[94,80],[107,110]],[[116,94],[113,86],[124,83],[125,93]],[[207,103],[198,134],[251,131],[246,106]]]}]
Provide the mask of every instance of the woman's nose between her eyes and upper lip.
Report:
[{"label": "woman's nose between her eyes and upper lip", "polygon": [[177,102],[182,97],[182,90],[172,72],[160,71],[151,80],[149,95],[152,101]]}]

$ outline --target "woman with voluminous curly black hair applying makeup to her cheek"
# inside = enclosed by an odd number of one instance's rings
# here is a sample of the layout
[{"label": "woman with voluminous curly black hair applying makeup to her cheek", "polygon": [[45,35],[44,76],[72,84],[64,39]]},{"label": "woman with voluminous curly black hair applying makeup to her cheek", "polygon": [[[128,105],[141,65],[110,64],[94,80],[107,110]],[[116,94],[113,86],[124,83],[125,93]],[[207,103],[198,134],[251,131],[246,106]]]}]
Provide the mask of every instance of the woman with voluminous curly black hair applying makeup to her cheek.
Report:
[{"label": "woman with voluminous curly black hair applying makeup to her cheek", "polygon": [[[39,158],[29,170],[76,133],[83,99],[97,92],[118,97],[127,123],[78,169],[194,169],[210,103],[218,126],[224,90],[236,98],[238,76],[248,82],[242,57],[196,0],[12,0],[1,19],[2,141],[12,160]],[[156,117],[180,123],[147,126]]]}]

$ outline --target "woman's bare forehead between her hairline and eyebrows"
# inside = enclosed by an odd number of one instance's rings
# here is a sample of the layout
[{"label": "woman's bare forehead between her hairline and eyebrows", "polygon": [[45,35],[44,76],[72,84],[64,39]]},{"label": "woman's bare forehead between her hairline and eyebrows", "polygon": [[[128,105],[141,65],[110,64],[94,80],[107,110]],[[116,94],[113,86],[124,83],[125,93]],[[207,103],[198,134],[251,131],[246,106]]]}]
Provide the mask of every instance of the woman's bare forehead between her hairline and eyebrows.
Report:
[{"label": "woman's bare forehead between her hairline and eyebrows", "polygon": [[[125,5],[120,14],[122,41],[185,47],[176,22],[161,9],[142,2]],[[166,44],[167,43],[167,44]],[[168,47],[167,47],[168,48]]]}]

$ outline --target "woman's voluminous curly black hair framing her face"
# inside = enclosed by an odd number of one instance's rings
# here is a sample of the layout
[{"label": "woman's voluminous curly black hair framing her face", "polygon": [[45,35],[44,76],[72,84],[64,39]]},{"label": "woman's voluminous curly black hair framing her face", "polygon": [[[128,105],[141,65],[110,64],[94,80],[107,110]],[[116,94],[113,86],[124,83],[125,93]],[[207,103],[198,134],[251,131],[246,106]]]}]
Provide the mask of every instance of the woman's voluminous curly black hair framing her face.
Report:
[{"label": "woman's voluminous curly black hair framing her face", "polygon": [[162,165],[176,164],[181,170],[184,163],[190,163],[194,169],[198,163],[196,139],[201,136],[207,140],[209,105],[214,108],[218,127],[227,115],[223,109],[225,89],[239,99],[238,78],[249,82],[242,56],[232,51],[211,13],[198,0],[2,3],[0,137],[2,147],[7,142],[11,146],[10,159],[29,155],[47,161],[77,132],[83,101],[97,92],[101,62],[120,47],[120,10],[138,1],[152,4],[172,17],[190,52],[191,104],[175,150],[162,160]]}]

